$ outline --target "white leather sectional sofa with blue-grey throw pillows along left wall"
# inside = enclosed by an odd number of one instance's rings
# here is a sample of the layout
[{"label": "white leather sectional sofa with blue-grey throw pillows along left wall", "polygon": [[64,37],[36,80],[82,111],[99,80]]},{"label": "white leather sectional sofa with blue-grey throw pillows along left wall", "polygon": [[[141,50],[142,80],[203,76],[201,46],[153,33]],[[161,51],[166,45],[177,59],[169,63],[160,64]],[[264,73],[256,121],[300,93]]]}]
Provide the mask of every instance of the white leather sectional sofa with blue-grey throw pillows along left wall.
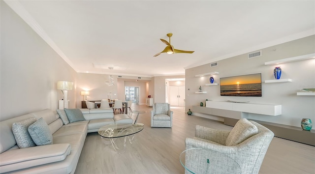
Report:
[{"label": "white leather sectional sofa with blue-grey throw pillows along left wall", "polygon": [[[26,127],[30,121],[33,123]],[[58,113],[45,109],[1,121],[0,173],[73,174],[87,133],[112,123],[132,123],[132,119],[126,114],[114,116],[112,109],[69,109]],[[29,134],[23,132],[25,129]],[[26,141],[30,136],[33,142]]]}]

